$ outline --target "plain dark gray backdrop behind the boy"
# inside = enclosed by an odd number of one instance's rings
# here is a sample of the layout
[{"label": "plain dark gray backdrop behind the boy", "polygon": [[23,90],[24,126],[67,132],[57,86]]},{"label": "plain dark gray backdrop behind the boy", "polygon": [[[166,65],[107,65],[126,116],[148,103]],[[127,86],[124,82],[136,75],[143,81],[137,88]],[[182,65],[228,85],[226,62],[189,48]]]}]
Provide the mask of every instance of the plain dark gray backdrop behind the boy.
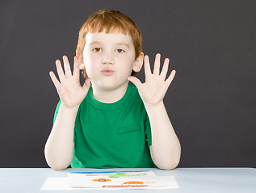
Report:
[{"label": "plain dark gray backdrop behind the boy", "polygon": [[177,71],[165,104],[179,166],[256,167],[254,0],[1,1],[0,167],[47,167],[59,101],[48,72],[73,60],[82,23],[103,8],[128,14],[151,61],[160,52]]}]

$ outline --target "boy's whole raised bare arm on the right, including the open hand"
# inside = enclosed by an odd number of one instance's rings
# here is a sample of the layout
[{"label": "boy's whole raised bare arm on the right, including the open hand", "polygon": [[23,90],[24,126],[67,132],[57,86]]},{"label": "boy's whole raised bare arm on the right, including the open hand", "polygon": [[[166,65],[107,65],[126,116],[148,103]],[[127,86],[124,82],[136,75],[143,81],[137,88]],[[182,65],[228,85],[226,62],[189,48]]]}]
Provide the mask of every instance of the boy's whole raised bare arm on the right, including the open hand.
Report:
[{"label": "boy's whole raised bare arm on the right, including the open hand", "polygon": [[130,76],[128,80],[136,85],[149,115],[152,133],[152,146],[150,154],[153,162],[160,169],[171,170],[178,166],[181,147],[178,138],[171,125],[163,98],[175,71],[166,79],[169,60],[166,59],[159,75],[160,54],[156,55],[153,74],[150,70],[149,56],[145,56],[145,83],[142,84],[136,77]]}]

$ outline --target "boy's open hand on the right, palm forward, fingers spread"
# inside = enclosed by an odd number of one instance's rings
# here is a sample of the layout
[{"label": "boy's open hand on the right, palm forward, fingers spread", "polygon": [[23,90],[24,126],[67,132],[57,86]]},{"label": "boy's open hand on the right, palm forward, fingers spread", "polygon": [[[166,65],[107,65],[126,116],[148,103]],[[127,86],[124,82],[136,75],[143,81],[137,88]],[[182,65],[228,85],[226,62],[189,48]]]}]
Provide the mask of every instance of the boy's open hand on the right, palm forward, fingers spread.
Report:
[{"label": "boy's open hand on the right, palm forward, fingers spread", "polygon": [[145,83],[141,83],[141,80],[134,76],[128,77],[128,80],[130,80],[133,84],[136,85],[136,88],[138,88],[141,99],[145,105],[157,106],[162,103],[162,100],[166,95],[166,91],[169,88],[170,83],[174,79],[176,73],[173,70],[170,73],[170,76],[166,79],[169,59],[166,58],[164,61],[162,72],[160,73],[160,58],[161,55],[157,54],[152,73],[149,64],[149,56],[145,55]]}]

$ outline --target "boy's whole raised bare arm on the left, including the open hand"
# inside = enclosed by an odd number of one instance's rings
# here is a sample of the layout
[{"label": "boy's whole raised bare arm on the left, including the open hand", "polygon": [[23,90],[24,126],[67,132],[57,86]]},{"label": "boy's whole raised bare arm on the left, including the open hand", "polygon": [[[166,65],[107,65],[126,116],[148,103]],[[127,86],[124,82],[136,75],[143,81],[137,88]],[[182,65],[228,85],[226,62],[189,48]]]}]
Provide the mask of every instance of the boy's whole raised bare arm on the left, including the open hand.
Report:
[{"label": "boy's whole raised bare arm on the left, including the open hand", "polygon": [[61,68],[61,61],[56,62],[60,81],[53,72],[50,72],[52,82],[61,98],[59,112],[44,148],[48,166],[54,170],[64,170],[72,162],[75,118],[78,107],[90,88],[90,78],[86,79],[83,86],[80,85],[78,57],[74,58],[73,75],[68,58],[64,56],[63,60],[65,73]]}]

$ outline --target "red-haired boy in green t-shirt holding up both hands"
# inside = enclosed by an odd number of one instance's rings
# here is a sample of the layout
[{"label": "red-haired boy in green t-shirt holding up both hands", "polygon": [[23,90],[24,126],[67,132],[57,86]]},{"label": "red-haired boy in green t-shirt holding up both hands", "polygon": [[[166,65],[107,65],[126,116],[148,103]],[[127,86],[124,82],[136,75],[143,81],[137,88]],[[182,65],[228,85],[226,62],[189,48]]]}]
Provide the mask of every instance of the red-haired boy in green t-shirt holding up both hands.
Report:
[{"label": "red-haired boy in green t-shirt holding up both hands", "polygon": [[[65,72],[56,61],[60,81],[50,72],[61,101],[45,145],[48,165],[54,170],[70,164],[77,168],[155,164],[174,169],[181,149],[163,104],[175,74],[172,71],[166,79],[169,60],[160,73],[157,54],[151,73],[146,55],[145,83],[134,77],[144,59],[141,32],[116,10],[100,10],[87,19],[76,53],[73,74],[66,56]],[[79,68],[86,77],[83,86]]]}]

